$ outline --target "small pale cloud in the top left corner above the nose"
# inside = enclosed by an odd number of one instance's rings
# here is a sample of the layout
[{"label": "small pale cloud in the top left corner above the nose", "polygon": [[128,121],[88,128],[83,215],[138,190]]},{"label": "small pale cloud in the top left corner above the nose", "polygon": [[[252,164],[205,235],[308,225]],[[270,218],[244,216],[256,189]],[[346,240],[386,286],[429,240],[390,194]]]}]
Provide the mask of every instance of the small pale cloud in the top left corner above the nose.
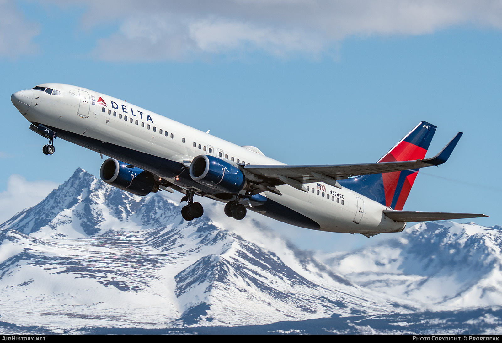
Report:
[{"label": "small pale cloud in the top left corner above the nose", "polygon": [[0,0],[0,56],[33,54],[38,49],[32,39],[38,34],[38,25],[24,18],[16,2]]}]

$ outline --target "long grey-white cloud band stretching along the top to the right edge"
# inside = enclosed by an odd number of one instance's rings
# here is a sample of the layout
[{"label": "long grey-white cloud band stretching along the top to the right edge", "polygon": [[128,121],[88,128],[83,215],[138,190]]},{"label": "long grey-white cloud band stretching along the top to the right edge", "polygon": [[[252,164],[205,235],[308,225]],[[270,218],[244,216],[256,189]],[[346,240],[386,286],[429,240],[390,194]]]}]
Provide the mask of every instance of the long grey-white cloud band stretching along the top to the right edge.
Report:
[{"label": "long grey-white cloud band stretching along the top to the right edge", "polygon": [[87,5],[83,27],[119,23],[94,51],[112,61],[248,50],[319,55],[353,35],[421,35],[455,25],[502,28],[502,2],[492,0],[91,0]]}]

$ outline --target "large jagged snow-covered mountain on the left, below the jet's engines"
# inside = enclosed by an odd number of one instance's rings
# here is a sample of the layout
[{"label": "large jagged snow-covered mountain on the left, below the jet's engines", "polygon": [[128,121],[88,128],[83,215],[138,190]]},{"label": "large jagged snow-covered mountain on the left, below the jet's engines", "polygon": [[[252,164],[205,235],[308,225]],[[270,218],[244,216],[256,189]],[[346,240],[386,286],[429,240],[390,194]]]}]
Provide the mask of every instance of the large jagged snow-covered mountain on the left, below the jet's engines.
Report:
[{"label": "large jagged snow-covered mountain on the left, below the jet's engines", "polygon": [[160,192],[139,197],[78,169],[0,228],[0,315],[45,327],[267,324],[398,304],[202,199],[186,222]]}]

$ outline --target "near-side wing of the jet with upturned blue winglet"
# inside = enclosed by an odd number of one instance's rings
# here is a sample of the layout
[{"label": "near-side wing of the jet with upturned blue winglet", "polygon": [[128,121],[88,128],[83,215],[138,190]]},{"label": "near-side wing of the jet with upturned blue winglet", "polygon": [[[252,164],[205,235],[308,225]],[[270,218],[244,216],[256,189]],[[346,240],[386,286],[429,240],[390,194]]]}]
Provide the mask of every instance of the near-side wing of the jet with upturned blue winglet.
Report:
[{"label": "near-side wing of the jet with upturned blue winglet", "polygon": [[301,189],[303,183],[322,181],[332,186],[340,187],[336,180],[351,176],[390,173],[443,164],[450,157],[461,136],[462,133],[459,132],[439,154],[423,160],[317,166],[246,165],[244,166],[244,170],[263,179],[263,182],[268,186],[289,184]]}]

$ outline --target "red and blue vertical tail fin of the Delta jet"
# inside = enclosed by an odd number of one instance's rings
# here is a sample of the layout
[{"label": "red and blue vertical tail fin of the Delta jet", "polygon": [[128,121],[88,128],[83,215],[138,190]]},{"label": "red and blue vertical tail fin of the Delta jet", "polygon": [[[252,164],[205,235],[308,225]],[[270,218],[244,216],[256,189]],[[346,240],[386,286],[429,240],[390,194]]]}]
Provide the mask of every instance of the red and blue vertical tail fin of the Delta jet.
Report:
[{"label": "red and blue vertical tail fin of the Delta jet", "polygon": [[[425,157],[436,132],[436,126],[420,122],[378,162],[414,161]],[[352,189],[388,207],[402,210],[418,169],[392,173],[358,176],[339,180],[343,187]]]}]

